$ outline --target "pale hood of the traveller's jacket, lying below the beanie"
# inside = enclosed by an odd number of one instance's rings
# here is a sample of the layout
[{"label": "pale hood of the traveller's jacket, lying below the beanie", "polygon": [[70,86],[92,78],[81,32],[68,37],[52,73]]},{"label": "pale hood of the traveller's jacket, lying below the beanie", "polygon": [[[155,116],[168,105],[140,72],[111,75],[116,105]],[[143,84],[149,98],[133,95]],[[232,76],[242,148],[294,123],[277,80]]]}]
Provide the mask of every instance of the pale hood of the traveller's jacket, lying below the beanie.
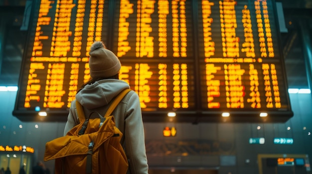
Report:
[{"label": "pale hood of the traveller's jacket, lying below the beanie", "polygon": [[76,94],[76,100],[88,109],[107,105],[124,89],[130,88],[125,81],[118,79],[104,79],[86,85]]}]

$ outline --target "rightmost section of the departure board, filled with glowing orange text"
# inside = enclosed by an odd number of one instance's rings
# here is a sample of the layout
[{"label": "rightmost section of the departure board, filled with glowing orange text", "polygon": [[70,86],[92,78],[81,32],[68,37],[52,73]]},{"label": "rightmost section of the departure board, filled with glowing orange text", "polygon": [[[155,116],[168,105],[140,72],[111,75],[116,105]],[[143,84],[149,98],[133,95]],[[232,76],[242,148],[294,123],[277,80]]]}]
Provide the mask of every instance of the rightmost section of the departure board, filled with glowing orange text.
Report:
[{"label": "rightmost section of the departure board, filled with glowing orange text", "polygon": [[207,113],[290,111],[274,3],[198,1],[201,108]]}]

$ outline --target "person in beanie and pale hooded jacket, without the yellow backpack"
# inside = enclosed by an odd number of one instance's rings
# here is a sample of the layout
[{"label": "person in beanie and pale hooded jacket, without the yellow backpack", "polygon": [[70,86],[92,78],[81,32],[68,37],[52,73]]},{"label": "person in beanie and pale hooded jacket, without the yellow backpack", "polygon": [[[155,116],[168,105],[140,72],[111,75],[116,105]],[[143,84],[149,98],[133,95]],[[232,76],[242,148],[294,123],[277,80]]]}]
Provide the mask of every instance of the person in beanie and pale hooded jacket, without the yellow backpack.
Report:
[{"label": "person in beanie and pale hooded jacket, without the yellow backpack", "polygon": [[[85,116],[89,116],[92,111],[104,115],[114,97],[130,86],[125,81],[119,80],[121,63],[102,42],[94,42],[89,55],[91,80],[78,90],[75,100],[83,106]],[[128,173],[148,174],[144,127],[138,94],[130,91],[112,115],[115,117],[116,126],[123,133],[121,144],[129,161]],[[79,119],[76,101],[73,101],[64,135],[77,124],[79,124]]]}]

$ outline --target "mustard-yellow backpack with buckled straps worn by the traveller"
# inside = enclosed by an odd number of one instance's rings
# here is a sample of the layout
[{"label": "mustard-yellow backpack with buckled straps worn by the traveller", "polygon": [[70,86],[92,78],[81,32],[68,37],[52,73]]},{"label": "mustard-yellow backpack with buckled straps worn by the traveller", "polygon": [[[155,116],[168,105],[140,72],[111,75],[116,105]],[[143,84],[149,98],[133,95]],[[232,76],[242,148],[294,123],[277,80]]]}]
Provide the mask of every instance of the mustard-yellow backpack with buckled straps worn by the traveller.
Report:
[{"label": "mustard-yellow backpack with buckled straps worn by the traveller", "polygon": [[82,106],[76,101],[80,124],[66,136],[46,143],[44,161],[55,159],[55,174],[126,174],[128,160],[120,140],[122,132],[115,126],[114,111],[124,96],[122,91],[105,116],[85,118]]}]

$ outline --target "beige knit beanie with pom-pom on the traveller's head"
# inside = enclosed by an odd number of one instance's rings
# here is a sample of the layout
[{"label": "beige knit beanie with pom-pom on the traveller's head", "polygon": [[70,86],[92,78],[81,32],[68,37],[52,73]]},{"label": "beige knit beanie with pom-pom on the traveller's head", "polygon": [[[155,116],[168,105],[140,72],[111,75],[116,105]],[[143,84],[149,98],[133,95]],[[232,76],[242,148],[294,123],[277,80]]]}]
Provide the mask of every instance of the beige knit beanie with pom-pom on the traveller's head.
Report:
[{"label": "beige knit beanie with pom-pom on the traveller's head", "polygon": [[92,44],[89,55],[90,76],[93,79],[112,77],[119,73],[121,68],[119,59],[113,52],[107,50],[101,41]]}]

